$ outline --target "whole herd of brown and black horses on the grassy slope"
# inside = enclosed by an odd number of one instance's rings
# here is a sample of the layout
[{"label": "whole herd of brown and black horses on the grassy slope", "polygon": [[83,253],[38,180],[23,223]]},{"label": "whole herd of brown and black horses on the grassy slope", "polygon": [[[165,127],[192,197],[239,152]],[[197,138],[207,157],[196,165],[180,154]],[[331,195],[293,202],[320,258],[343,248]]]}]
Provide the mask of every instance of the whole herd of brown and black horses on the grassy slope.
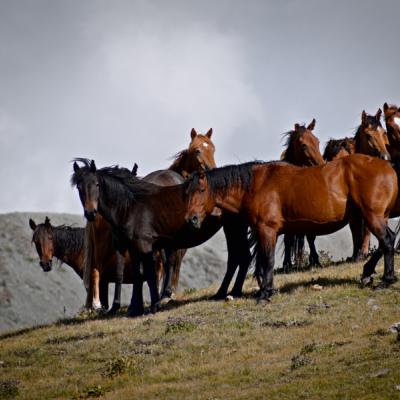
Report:
[{"label": "whole herd of brown and black horses on the grassy slope", "polygon": [[[315,237],[350,225],[353,260],[369,253],[370,232],[379,248],[364,265],[361,282],[372,283],[379,259],[384,274],[379,287],[396,280],[395,233],[388,219],[400,216],[398,161],[400,108],[383,106],[375,115],[361,114],[352,138],[331,139],[321,155],[314,135],[315,120],[295,124],[285,134],[280,161],[254,161],[217,168],[212,129],[191,131],[188,149],[173,164],[139,178],[132,170],[98,169],[94,160],[77,158],[71,183],[76,186],[85,228],[53,226],[46,217],[29,225],[40,265],[50,271],[52,258],[70,265],[83,279],[86,307],[109,308],[108,285],[115,282],[110,313],[120,307],[121,286],[133,284],[129,315],[144,313],[143,283],[151,297],[150,311],[174,296],[186,249],[197,246],[223,228],[227,270],[215,299],[227,296],[238,269],[232,296],[242,287],[252,260],[259,301],[274,292],[273,270],[277,237],[284,234],[284,268],[301,256],[304,236],[310,264],[318,265]],[[159,287],[162,288],[159,290]]]}]

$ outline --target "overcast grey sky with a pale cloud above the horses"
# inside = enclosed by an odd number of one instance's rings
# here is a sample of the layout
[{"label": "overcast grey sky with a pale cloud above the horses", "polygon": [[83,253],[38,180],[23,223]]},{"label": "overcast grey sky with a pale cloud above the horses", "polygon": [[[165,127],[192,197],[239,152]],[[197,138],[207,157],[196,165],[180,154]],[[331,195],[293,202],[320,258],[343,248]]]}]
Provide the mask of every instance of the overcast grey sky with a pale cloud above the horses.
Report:
[{"label": "overcast grey sky with a pale cloud above the horses", "polygon": [[[400,1],[0,1],[0,212],[82,213],[70,160],[170,165],[214,129],[219,165],[277,159],[400,105]],[[322,150],[322,149],[321,149]]]}]

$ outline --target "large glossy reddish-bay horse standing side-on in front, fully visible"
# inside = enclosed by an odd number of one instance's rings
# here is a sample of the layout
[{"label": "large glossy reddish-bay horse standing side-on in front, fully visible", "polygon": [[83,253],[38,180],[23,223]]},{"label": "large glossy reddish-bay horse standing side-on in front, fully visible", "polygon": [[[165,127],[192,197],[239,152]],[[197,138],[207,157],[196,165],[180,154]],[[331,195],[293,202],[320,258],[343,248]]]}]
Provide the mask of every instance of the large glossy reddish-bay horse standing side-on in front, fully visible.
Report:
[{"label": "large glossy reddish-bay horse standing side-on in front, fully visible", "polygon": [[382,253],[382,286],[396,280],[395,234],[387,221],[396,203],[398,184],[395,171],[386,161],[354,154],[309,168],[252,162],[195,174],[188,182],[187,193],[186,219],[195,228],[218,210],[241,214],[249,222],[256,237],[255,275],[260,300],[273,293],[278,235],[326,235],[360,215],[379,241],[379,251],[364,265],[363,283],[370,282]]}]

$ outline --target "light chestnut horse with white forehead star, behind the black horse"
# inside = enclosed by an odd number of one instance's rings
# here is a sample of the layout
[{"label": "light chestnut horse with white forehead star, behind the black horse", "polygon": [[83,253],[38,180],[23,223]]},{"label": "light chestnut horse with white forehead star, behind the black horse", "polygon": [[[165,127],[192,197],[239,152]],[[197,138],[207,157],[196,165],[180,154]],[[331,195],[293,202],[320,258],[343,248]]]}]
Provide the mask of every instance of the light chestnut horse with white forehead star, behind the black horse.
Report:
[{"label": "light chestnut horse with white forehead star, behind the black horse", "polygon": [[[175,156],[173,164],[170,166],[170,171],[175,171],[183,177],[189,176],[192,172],[201,169],[210,169],[216,166],[214,160],[215,146],[211,141],[212,129],[203,134],[198,134],[195,129],[192,129],[190,133],[191,142],[188,149],[179,152]],[[132,174],[136,176],[137,165],[135,164]],[[154,183],[160,186],[169,186],[180,183],[176,181],[175,177],[171,177],[166,171],[155,171],[148,174],[143,178],[144,181]],[[131,272],[127,270],[131,269],[130,258],[128,253],[124,254],[124,257],[119,256],[112,242],[112,229],[110,224],[99,215],[94,222],[88,222],[86,225],[86,257],[85,257],[85,286],[88,289],[86,307],[92,307],[92,298],[94,298],[95,307],[96,304],[103,304],[105,300],[99,298],[100,288],[99,283],[104,279],[101,279],[103,274],[116,274],[120,279],[119,284],[122,283],[122,277],[124,274],[129,274],[131,278]],[[185,254],[185,250],[178,250],[171,254],[167,254],[168,263],[171,266],[166,269],[166,278],[164,279],[163,286],[163,297],[170,298],[176,290],[180,265]],[[110,264],[109,260],[113,259],[114,264]],[[161,253],[156,254],[156,274],[157,281],[160,282],[161,276],[164,272],[163,260]],[[124,280],[124,283],[132,283]],[[115,297],[112,312],[115,312],[119,308],[120,304],[120,285],[116,287],[116,291],[119,296]]]}]

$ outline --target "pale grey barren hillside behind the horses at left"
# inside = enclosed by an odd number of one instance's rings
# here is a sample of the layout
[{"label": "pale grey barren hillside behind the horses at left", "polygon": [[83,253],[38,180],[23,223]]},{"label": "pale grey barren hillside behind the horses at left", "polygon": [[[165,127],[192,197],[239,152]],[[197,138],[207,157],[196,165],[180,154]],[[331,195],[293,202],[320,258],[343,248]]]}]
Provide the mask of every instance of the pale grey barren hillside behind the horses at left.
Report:
[{"label": "pale grey barren hillside behind the horses at left", "polygon": [[[46,215],[53,225],[85,224],[84,218],[78,215],[0,214],[0,331],[71,317],[85,302],[82,281],[69,266],[55,264],[47,273],[39,266],[28,220],[43,222]],[[222,279],[224,241],[221,232],[203,246],[188,251],[181,268],[179,290],[207,287]],[[113,289],[110,285],[110,298]],[[122,300],[124,304],[130,301],[128,285],[124,285]]]}]

